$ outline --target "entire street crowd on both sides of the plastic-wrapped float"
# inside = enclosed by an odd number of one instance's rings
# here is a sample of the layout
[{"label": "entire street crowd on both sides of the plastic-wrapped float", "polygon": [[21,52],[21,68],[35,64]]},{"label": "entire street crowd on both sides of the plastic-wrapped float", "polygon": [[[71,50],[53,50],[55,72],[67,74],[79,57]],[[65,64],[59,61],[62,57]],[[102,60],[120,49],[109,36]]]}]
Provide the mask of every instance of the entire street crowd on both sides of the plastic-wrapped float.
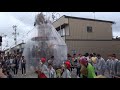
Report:
[{"label": "entire street crowd on both sides of the plastic-wrapped float", "polygon": [[[75,78],[119,78],[120,60],[115,54],[108,55],[105,60],[100,54],[68,54],[68,59],[58,67],[54,67],[54,56],[49,60],[45,57],[40,59],[36,69],[38,78],[73,78],[72,73],[76,70]],[[0,78],[14,78],[18,75],[26,75],[26,60],[24,56],[0,57]]]}]

